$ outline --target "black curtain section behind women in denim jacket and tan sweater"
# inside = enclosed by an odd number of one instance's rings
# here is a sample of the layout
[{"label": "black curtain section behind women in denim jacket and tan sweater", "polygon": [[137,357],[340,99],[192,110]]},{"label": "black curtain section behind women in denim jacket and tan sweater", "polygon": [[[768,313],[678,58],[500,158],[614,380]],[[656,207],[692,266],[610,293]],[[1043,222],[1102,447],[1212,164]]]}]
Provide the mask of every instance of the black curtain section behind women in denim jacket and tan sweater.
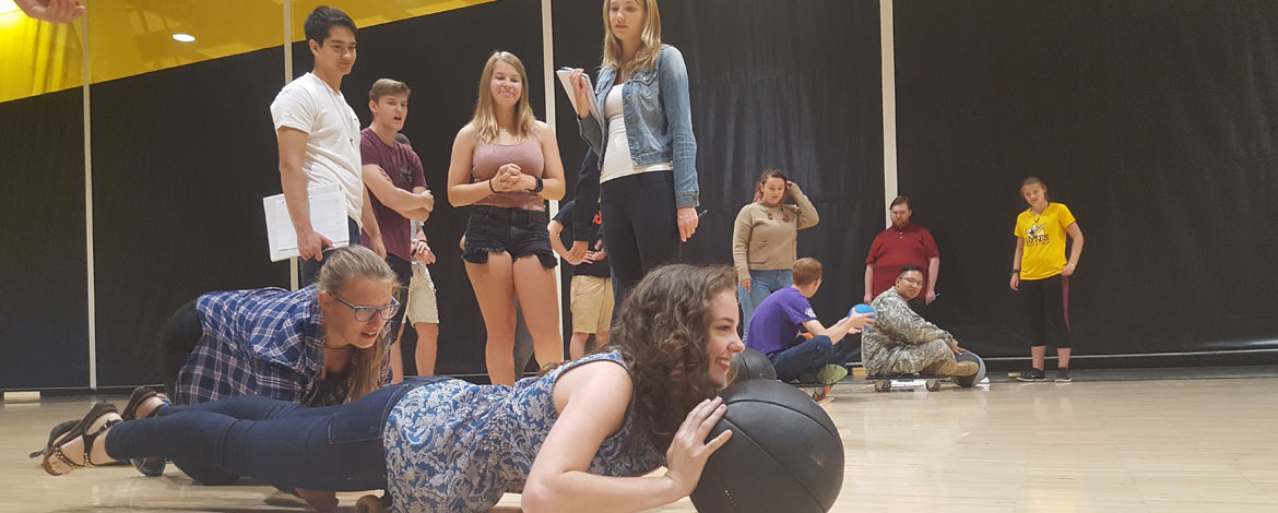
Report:
[{"label": "black curtain section behind women in denim jacket and tan sweater", "polygon": [[[602,5],[555,3],[556,68],[596,75]],[[845,283],[860,283],[858,262],[883,226],[878,3],[666,0],[661,15],[662,41],[688,64],[708,211],[684,262],[731,264],[736,213],[753,199],[759,174],[780,167],[820,212],[820,223],[799,235],[799,255],[826,265],[813,308],[831,323],[846,315],[860,287]],[[560,148],[576,167],[585,143],[566,93],[557,94]]]}]

